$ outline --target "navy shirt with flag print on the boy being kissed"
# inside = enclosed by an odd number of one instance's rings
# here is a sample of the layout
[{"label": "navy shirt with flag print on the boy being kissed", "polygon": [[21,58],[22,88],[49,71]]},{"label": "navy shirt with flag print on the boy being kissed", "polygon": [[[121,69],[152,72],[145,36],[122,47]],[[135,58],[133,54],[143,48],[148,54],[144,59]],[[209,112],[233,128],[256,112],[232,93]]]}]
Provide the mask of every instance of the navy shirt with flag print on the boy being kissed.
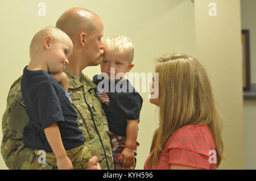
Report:
[{"label": "navy shirt with flag print on the boy being kissed", "polygon": [[109,130],[118,136],[126,136],[127,120],[139,119],[143,99],[128,79],[108,81],[102,74],[94,75],[93,83],[102,108],[106,113]]}]

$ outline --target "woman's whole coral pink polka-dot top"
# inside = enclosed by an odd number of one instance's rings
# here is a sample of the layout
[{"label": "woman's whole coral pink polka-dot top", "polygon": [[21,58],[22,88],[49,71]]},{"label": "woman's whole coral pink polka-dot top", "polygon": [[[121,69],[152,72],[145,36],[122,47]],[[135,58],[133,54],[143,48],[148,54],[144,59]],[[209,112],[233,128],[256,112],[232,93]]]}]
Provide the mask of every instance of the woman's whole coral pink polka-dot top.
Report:
[{"label": "woman's whole coral pink polka-dot top", "polygon": [[[159,155],[158,163],[153,169],[170,169],[172,163],[215,169],[215,150],[214,140],[207,125],[185,125],[168,138],[163,153]],[[144,169],[148,169],[148,158]]]}]

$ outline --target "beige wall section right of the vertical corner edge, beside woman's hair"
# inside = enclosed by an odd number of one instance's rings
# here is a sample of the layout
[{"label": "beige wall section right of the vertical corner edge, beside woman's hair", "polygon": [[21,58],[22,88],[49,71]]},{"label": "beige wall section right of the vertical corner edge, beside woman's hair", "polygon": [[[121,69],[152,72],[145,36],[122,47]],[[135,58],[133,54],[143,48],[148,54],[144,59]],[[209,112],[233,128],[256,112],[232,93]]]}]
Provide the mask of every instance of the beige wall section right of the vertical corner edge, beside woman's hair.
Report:
[{"label": "beige wall section right of the vertical corner edge, beside woman's hair", "polygon": [[[217,16],[209,16],[210,2]],[[244,169],[240,0],[195,0],[196,54],[207,68],[225,118],[220,169]]]}]

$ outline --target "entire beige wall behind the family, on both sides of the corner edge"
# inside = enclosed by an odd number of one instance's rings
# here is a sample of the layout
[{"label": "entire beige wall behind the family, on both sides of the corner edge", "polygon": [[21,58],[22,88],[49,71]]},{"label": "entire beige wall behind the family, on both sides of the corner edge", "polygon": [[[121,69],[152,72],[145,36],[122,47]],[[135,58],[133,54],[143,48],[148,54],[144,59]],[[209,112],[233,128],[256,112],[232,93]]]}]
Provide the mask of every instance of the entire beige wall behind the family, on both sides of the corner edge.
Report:
[{"label": "entire beige wall behind the family, on both sides of the corner edge", "polygon": [[[28,46],[34,33],[45,26],[55,26],[57,18],[74,6],[86,7],[101,16],[104,22],[104,38],[125,35],[135,45],[135,67],[131,72],[154,72],[154,59],[167,52],[184,52],[203,61],[212,81],[214,94],[226,118],[225,155],[231,159],[224,169],[243,168],[242,86],[240,60],[241,39],[240,5],[238,0],[217,2],[216,19],[208,17],[208,0],[161,0],[161,3],[136,0],[49,1],[45,0],[47,14],[39,17],[38,3],[42,1],[1,1],[0,11],[2,40],[0,60],[1,102],[0,116],[6,108],[6,96],[11,83],[22,74],[28,62]],[[208,3],[208,4],[207,4]],[[228,4],[229,3],[229,4]],[[229,6],[228,6],[229,5]],[[104,8],[103,8],[104,7]],[[229,9],[228,11],[224,11]],[[225,12],[225,13],[224,13]],[[228,14],[231,13],[231,14]],[[4,18],[3,18],[4,17]],[[231,20],[231,33],[226,28]],[[196,26],[195,26],[196,22]],[[216,23],[217,25],[214,25]],[[195,30],[197,32],[195,32]],[[225,31],[224,31],[225,30]],[[224,32],[224,35],[221,33]],[[225,41],[223,41],[225,40]],[[196,50],[197,48],[197,50]],[[225,51],[224,51],[225,50]],[[227,56],[224,52],[228,53]],[[231,65],[231,66],[230,66]],[[89,77],[98,73],[98,67],[86,68]],[[146,82],[148,85],[149,82]],[[155,106],[141,93],[144,101],[139,123],[137,169],[143,169],[149,154],[152,134],[158,115]],[[1,127],[1,126],[0,126]],[[2,133],[0,133],[2,140]],[[0,169],[6,169],[0,157]]]}]

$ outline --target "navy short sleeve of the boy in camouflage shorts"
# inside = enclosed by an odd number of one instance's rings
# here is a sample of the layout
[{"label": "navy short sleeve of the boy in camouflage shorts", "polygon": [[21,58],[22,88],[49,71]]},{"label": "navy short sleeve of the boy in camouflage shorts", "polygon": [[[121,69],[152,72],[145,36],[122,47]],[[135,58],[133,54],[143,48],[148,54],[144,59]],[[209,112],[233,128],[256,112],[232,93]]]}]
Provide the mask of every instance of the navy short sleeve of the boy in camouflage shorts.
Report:
[{"label": "navy short sleeve of the boy in camouflage shorts", "polygon": [[42,83],[36,90],[35,97],[43,129],[49,127],[52,123],[64,121],[60,99],[54,85]]}]

